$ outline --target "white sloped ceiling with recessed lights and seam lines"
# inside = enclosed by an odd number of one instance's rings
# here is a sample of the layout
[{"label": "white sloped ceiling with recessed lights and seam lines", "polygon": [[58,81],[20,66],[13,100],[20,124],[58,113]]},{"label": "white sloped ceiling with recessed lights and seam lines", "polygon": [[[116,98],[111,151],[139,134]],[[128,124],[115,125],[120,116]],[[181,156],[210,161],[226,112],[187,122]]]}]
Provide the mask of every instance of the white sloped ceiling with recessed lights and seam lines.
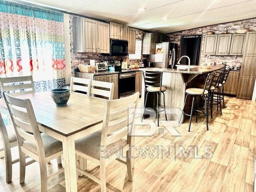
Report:
[{"label": "white sloped ceiling with recessed lights and seam lines", "polygon": [[162,33],[256,17],[256,0],[21,1]]}]

